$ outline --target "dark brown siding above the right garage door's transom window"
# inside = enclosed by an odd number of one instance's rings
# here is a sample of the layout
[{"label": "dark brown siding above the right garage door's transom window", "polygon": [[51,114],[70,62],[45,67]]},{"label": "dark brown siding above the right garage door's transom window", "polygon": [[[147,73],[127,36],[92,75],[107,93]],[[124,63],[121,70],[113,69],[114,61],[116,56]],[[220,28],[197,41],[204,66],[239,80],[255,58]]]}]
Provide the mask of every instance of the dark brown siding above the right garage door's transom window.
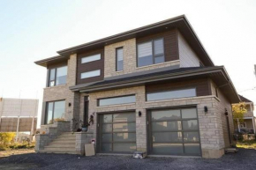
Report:
[{"label": "dark brown siding above the right garage door's transom window", "polygon": [[161,92],[189,87],[196,87],[197,96],[210,95],[210,89],[207,78],[146,85],[146,92]]}]

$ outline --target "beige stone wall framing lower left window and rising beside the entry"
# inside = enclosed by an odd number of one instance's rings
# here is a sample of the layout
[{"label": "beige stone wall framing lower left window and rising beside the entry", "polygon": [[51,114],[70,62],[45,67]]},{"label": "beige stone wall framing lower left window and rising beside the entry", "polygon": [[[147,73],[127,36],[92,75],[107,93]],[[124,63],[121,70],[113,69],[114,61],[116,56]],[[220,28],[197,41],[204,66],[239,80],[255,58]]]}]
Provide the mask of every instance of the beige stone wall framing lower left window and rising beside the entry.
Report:
[{"label": "beige stone wall framing lower left window and rising beside the entry", "polygon": [[[46,102],[65,100],[64,120],[71,122],[71,129],[73,129],[73,126],[74,128],[78,128],[79,124],[73,124],[72,119],[75,118],[76,121],[79,122],[79,92],[69,90],[69,86],[76,84],[77,55],[71,55],[67,64],[67,84],[44,88],[41,124],[44,124],[45,120]],[[71,107],[69,107],[69,103],[71,103]]]}]

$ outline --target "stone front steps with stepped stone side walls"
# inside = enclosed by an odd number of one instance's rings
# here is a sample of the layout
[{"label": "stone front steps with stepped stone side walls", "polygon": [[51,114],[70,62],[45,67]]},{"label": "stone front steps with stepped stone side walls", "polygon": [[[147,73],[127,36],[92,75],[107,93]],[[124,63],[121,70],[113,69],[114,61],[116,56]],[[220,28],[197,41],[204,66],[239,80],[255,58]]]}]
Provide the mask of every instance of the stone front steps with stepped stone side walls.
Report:
[{"label": "stone front steps with stepped stone side walls", "polygon": [[85,153],[85,144],[90,144],[92,132],[72,132],[70,122],[54,122],[41,125],[41,134],[35,136],[35,152],[47,153]]}]

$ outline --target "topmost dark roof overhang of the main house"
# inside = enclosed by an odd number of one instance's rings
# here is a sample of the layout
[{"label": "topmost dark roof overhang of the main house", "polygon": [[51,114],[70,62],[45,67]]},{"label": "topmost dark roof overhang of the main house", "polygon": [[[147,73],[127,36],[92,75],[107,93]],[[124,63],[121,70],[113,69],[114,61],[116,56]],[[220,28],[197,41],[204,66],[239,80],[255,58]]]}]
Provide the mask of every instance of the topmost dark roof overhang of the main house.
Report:
[{"label": "topmost dark roof overhang of the main house", "polygon": [[124,33],[118,33],[97,41],[91,41],[79,46],[72,48],[66,48],[63,50],[57,51],[59,55],[67,56],[76,53],[82,53],[87,50],[93,50],[97,48],[103,48],[106,45],[116,43],[118,41],[125,41],[132,38],[140,38],[153,33],[161,33],[171,29],[177,28],[180,33],[183,34],[184,38],[188,41],[193,50],[200,56],[200,60],[205,63],[205,66],[214,66],[214,63],[207,55],[207,51],[202,46],[200,39],[192,29],[188,19],[182,15],[175,18],[169,18],[161,22],[157,22],[148,26],[142,26],[131,31]]}]

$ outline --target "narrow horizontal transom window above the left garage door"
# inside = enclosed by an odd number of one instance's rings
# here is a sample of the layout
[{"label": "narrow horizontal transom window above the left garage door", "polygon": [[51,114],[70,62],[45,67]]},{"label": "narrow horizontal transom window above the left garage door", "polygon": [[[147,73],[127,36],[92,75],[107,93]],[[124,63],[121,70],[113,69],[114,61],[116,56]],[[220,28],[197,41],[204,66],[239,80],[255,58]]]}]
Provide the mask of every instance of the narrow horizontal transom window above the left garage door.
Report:
[{"label": "narrow horizontal transom window above the left garage door", "polygon": [[135,95],[130,96],[120,96],[120,97],[113,97],[113,98],[107,98],[107,99],[99,99],[98,100],[98,106],[108,106],[108,105],[121,105],[126,103],[135,103]]}]

